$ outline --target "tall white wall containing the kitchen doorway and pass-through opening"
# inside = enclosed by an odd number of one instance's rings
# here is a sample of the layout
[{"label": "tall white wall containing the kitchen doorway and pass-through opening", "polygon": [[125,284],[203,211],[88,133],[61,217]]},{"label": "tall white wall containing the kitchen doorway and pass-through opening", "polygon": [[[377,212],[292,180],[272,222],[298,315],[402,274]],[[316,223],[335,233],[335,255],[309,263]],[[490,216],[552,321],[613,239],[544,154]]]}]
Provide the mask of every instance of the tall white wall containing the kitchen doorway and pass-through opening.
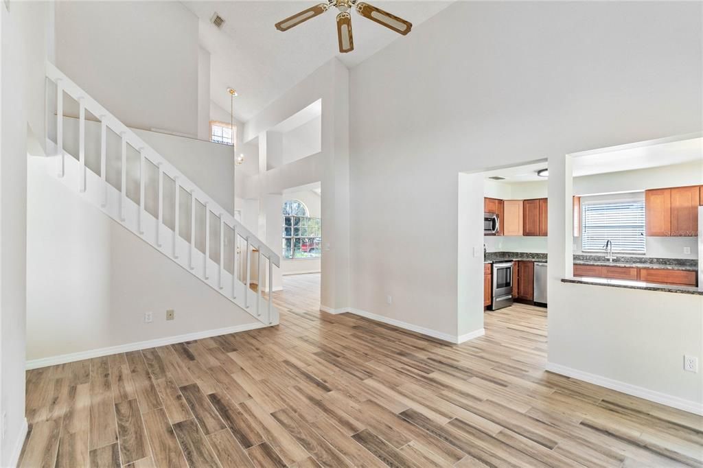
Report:
[{"label": "tall white wall containing the kitchen doorway and pass-through opening", "polygon": [[[570,206],[566,184],[553,181],[552,173],[559,173],[557,162],[563,164],[567,153],[699,131],[701,8],[685,2],[456,2],[355,67],[351,305],[456,334],[451,324],[458,313],[458,172],[548,158],[549,231],[556,235],[567,231]],[[434,86],[418,93],[418,83]],[[569,184],[569,200],[570,190]],[[431,256],[418,256],[429,242],[416,220],[432,228],[437,248]],[[674,310],[673,304],[699,310],[703,298],[657,293],[672,299],[671,305],[662,300],[655,308],[650,294],[612,290],[572,301],[569,294],[579,285],[560,282],[571,240],[567,245],[551,237],[550,360],[579,368],[593,349],[610,349],[636,330],[631,353],[593,356],[590,372],[693,398],[692,382],[676,388],[664,382],[669,377],[683,382],[683,353],[700,349],[699,318],[681,314],[680,325],[695,330],[684,339],[608,318],[592,327],[553,323],[569,323],[595,308],[617,314],[621,308],[610,300],[614,295],[642,312],[641,323],[650,318],[657,323],[657,314]],[[470,268],[482,268],[480,258],[469,260]],[[381,278],[393,285],[399,306],[385,304]],[[473,296],[482,296],[482,284],[473,287]],[[591,337],[589,345],[566,349],[576,337]],[[612,372],[613,360],[621,359],[622,366],[641,375],[659,360],[647,349],[657,340],[665,340],[678,356],[676,363],[652,368],[647,382]],[[695,398],[701,401],[700,391]]]}]

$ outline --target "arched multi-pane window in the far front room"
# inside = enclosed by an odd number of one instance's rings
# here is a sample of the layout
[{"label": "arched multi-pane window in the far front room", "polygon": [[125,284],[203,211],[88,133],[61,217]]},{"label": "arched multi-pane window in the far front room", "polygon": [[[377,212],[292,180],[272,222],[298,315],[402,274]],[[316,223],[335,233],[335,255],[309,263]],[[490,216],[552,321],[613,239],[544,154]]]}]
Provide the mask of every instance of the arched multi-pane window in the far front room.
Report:
[{"label": "arched multi-pane window in the far front room", "polygon": [[283,202],[283,258],[308,259],[321,254],[321,223],[300,200]]}]

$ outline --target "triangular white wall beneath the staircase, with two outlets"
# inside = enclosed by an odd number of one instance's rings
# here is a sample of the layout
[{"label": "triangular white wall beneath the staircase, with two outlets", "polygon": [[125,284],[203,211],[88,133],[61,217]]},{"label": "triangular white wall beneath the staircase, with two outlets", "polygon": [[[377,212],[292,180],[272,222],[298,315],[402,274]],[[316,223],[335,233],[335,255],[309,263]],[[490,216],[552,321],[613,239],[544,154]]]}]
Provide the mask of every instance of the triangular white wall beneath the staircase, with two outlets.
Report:
[{"label": "triangular white wall beneath the staircase, with two outlets", "polygon": [[[257,324],[35,158],[28,179],[28,359]],[[176,319],[166,321],[171,308]],[[153,323],[144,323],[146,312]]]}]

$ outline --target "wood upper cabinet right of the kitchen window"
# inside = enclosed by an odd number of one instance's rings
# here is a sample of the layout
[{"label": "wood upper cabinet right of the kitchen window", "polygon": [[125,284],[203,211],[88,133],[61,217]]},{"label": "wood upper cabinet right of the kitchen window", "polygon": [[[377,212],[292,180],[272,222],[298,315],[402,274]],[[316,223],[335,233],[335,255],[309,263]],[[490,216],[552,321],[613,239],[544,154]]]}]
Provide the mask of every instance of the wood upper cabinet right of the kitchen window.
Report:
[{"label": "wood upper cabinet right of the kitchen window", "polygon": [[699,204],[700,186],[645,190],[647,235],[697,236]]}]

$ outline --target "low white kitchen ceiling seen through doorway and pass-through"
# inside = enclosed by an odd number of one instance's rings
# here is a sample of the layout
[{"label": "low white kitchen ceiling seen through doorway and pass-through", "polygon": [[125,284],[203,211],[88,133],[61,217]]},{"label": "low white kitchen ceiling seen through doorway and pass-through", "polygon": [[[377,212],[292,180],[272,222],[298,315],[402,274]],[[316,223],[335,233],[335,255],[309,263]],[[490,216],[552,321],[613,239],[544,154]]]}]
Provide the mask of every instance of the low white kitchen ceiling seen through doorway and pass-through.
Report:
[{"label": "low white kitchen ceiling seen through doorway and pass-through", "polygon": [[[605,174],[607,172],[632,171],[651,167],[672,166],[685,162],[703,162],[703,138],[671,141],[656,145],[644,145],[622,150],[593,152],[593,154],[574,157],[574,177]],[[485,176],[505,177],[503,182],[546,181],[537,175],[539,169],[545,169],[546,162],[525,164],[486,171]]]}]

